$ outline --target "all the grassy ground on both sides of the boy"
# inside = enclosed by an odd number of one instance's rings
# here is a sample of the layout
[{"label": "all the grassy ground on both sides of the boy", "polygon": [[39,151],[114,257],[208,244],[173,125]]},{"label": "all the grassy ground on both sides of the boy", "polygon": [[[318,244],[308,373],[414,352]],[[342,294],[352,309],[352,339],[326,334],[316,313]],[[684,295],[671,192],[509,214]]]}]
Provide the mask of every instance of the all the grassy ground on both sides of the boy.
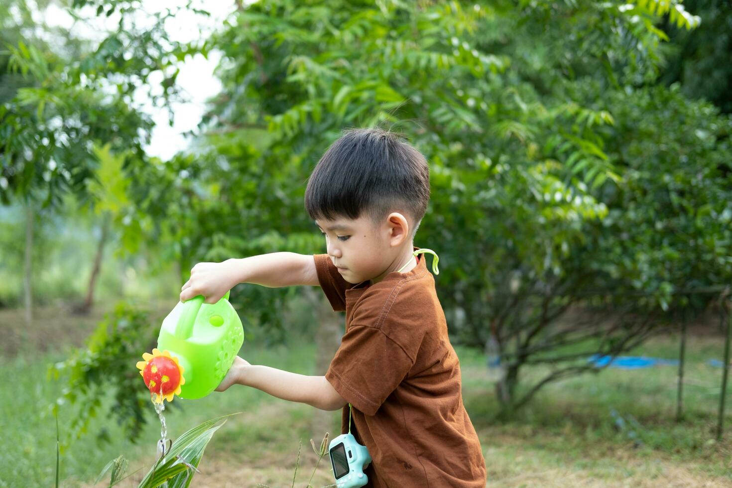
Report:
[{"label": "all the grassy ground on both sides of the boy", "polygon": [[[56,314],[57,322],[61,314]],[[64,319],[65,320],[65,319]],[[71,319],[70,319],[71,320]],[[78,319],[73,319],[78,322]],[[90,323],[78,324],[83,336]],[[83,321],[82,321],[83,322]],[[11,322],[0,315],[0,333]],[[44,415],[45,405],[63,386],[46,381],[47,364],[64,359],[63,331],[47,341],[58,347],[36,348],[23,343],[15,354],[0,359],[0,487],[53,486],[56,467],[56,422]],[[31,329],[33,331],[33,329]],[[29,334],[29,336],[37,336]],[[47,342],[47,345],[48,345]],[[75,339],[72,342],[76,342]],[[289,347],[258,348],[245,344],[242,357],[303,374],[314,374],[312,341],[294,341]],[[40,349],[40,350],[39,350]],[[456,348],[463,372],[463,397],[482,442],[490,487],[682,487],[732,484],[731,433],[714,441],[721,369],[706,364],[722,357],[718,332],[698,329],[687,344],[687,384],[684,421],[674,420],[676,367],[622,370],[605,369],[553,383],[537,394],[528,407],[509,421],[498,422],[493,388],[485,359],[479,351]],[[633,353],[675,359],[678,338],[658,337]],[[526,369],[524,378],[539,378],[548,369]],[[105,399],[108,402],[108,399]],[[180,402],[182,409],[166,410],[168,432],[176,437],[207,418],[242,412],[231,418],[212,439],[195,478],[201,487],[291,486],[298,445],[302,440],[296,486],[304,487],[317,456],[310,438],[319,444],[326,425],[333,435],[340,413],[326,413],[315,421],[315,409],[272,399],[260,391],[234,387],[224,394]],[[732,432],[732,405],[726,426]],[[102,410],[104,411],[104,410]],[[59,427],[73,415],[62,405]],[[322,415],[322,414],[318,414]],[[107,429],[111,445],[97,445],[94,434]],[[91,487],[104,465],[119,454],[130,460],[130,472],[142,468],[122,487],[136,486],[152,464],[160,424],[150,406],[149,424],[136,445],[124,440],[114,421],[94,418],[89,433],[61,453],[61,486]],[[321,462],[313,484],[332,482],[329,462]],[[101,485],[99,485],[101,486]]]}]

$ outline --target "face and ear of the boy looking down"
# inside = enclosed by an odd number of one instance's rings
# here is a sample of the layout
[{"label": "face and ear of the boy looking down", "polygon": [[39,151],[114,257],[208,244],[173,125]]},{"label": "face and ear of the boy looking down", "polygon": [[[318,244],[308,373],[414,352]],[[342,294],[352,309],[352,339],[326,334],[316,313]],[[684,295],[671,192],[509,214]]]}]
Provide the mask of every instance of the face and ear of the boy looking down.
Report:
[{"label": "face and ear of the boy looking down", "polygon": [[395,263],[403,264],[397,261],[403,259],[402,248],[409,243],[405,241],[408,224],[402,214],[389,214],[382,224],[375,224],[367,215],[318,219],[315,224],[325,235],[330,259],[349,283],[378,282],[393,271]]}]

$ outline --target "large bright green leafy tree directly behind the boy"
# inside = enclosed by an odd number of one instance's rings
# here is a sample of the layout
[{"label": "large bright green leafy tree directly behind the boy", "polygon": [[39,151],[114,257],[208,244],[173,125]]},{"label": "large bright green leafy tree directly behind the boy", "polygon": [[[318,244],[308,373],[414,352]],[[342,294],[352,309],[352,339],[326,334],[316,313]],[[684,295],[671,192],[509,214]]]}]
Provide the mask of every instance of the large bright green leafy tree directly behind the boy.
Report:
[{"label": "large bright green leafy tree directly behind the boy", "polygon": [[[614,99],[602,94],[657,78],[665,34],[655,24],[665,14],[678,26],[698,25],[681,4],[654,1],[240,4],[212,40],[224,53],[224,93],[205,123],[223,154],[250,151],[258,140],[261,154],[237,159],[275,168],[267,174],[277,175],[278,188],[289,185],[283,193],[297,197],[297,210],[302,181],[340,129],[387,124],[408,133],[433,170],[417,244],[441,251],[441,297],[466,316],[452,329],[466,342],[498,342],[507,363],[501,399],[523,403],[535,389],[515,399],[520,367],[569,340],[556,320],[586,299],[583,290],[618,285],[593,266],[600,248],[586,246],[608,215],[607,188],[624,181],[619,158],[605,149],[616,119]],[[265,129],[263,141],[257,131]],[[267,175],[251,171],[267,187]],[[283,213],[287,201],[256,195],[255,209]],[[263,231],[276,222],[264,216]],[[310,225],[289,210],[286,217],[282,230]],[[632,348],[657,325],[663,299],[635,326],[575,335],[599,340],[590,352]],[[550,380],[586,366],[569,364]]]}]

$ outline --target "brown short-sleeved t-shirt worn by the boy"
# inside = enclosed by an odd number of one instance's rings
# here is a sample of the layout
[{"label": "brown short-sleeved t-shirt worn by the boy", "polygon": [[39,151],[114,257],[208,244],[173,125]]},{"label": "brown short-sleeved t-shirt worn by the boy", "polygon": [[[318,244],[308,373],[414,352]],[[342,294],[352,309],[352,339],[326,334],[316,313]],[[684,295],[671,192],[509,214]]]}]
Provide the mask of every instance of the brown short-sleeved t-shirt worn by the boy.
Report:
[{"label": "brown short-sleeved t-shirt worn by the boy", "polygon": [[[346,311],[346,334],[325,377],[353,405],[351,434],[372,459],[367,486],[485,487],[458,356],[426,260],[353,285],[328,255],[314,258],[333,309]],[[348,405],[341,430],[348,432]]]}]

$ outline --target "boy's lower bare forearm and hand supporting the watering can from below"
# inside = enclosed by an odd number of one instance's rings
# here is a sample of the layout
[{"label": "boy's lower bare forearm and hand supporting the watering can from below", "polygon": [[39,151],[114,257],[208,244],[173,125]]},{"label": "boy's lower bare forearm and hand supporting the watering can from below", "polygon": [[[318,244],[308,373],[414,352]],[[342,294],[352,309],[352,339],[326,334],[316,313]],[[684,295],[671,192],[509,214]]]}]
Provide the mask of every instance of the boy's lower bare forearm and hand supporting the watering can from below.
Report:
[{"label": "boy's lower bare forearm and hand supporting the watering can from below", "polygon": [[347,403],[324,376],[298,375],[282,369],[249,364],[239,356],[234,359],[234,364],[216,391],[225,391],[234,383],[257,388],[290,402],[307,403],[321,410],[339,410]]}]

